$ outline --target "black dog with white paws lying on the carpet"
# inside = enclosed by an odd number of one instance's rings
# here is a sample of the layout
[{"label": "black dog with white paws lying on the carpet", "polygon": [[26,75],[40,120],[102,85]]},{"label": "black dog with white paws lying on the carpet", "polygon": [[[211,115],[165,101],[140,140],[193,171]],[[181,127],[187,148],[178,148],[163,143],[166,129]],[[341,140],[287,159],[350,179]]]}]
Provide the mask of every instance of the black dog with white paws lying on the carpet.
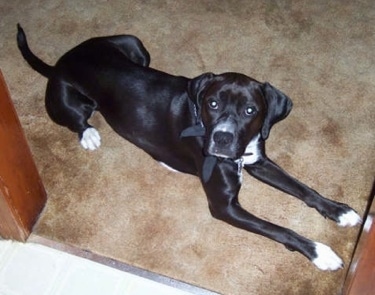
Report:
[{"label": "black dog with white paws lying on the carpet", "polygon": [[270,129],[292,108],[285,94],[238,73],[188,79],[149,68],[148,52],[130,35],[90,39],[54,67],[30,51],[20,26],[17,41],[30,66],[49,79],[49,116],[78,133],[84,148],[100,145],[98,132],[87,122],[100,111],[120,136],[155,160],[198,176],[215,218],[282,243],[319,269],[342,267],[330,247],[261,220],[238,202],[244,168],[340,226],[361,222],[349,206],[323,198],[267,158]]}]

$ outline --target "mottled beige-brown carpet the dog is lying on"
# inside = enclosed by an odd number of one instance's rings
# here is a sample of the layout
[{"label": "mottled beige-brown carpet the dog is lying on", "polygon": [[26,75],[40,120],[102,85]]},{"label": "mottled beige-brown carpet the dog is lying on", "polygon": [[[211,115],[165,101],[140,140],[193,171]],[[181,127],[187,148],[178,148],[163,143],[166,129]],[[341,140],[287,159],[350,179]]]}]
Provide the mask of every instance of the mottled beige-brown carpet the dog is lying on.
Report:
[{"label": "mottled beige-brown carpet the dog is lying on", "polygon": [[[373,0],[0,3],[0,66],[49,196],[36,234],[222,294],[339,294],[346,269],[318,271],[300,254],[212,219],[198,179],[165,170],[99,114],[103,145],[84,151],[48,119],[46,79],[21,58],[17,22],[49,63],[87,38],[131,33],[160,70],[238,71],[271,82],[294,109],[273,129],[269,156],[363,214],[375,172]],[[332,246],[348,266],[358,228],[339,228],[250,177],[240,200]]]}]

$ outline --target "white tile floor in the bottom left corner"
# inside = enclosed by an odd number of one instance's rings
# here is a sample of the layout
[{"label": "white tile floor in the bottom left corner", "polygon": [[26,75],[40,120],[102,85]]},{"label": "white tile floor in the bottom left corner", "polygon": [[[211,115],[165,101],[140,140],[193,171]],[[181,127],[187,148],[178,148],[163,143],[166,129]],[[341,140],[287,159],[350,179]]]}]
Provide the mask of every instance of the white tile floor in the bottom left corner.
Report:
[{"label": "white tile floor in the bottom left corner", "polygon": [[35,243],[0,240],[0,295],[191,295]]}]

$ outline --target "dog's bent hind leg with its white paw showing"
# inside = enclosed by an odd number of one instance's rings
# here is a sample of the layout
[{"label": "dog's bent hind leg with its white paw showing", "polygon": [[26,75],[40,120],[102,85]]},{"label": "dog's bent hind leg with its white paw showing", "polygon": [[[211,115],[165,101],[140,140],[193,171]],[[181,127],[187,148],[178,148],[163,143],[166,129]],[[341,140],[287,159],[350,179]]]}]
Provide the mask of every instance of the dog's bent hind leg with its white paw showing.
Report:
[{"label": "dog's bent hind leg with its white paw showing", "polygon": [[88,120],[97,104],[70,84],[50,79],[46,90],[46,109],[57,124],[78,134],[83,148],[95,150],[100,146],[100,135]]}]

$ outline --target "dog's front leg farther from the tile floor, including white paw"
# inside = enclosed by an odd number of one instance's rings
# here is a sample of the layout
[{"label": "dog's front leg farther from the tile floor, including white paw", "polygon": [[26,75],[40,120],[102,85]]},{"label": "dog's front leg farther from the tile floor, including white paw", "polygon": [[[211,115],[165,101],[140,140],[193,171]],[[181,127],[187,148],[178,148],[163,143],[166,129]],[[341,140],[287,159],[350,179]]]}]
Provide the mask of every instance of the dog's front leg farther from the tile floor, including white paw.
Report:
[{"label": "dog's front leg farther from the tile floor, including white paw", "polygon": [[255,178],[304,201],[321,215],[328,217],[340,226],[355,226],[361,223],[360,216],[348,205],[322,197],[297,179],[291,177],[266,156],[245,170]]}]

